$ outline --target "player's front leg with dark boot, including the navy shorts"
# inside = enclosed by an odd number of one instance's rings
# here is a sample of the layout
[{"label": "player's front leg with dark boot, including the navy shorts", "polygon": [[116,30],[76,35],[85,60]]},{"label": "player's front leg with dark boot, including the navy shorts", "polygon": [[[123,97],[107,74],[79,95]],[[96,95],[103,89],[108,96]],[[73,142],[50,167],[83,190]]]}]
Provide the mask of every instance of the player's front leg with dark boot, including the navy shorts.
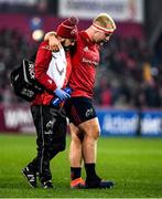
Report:
[{"label": "player's front leg with dark boot, including the navy shorts", "polygon": [[112,182],[102,181],[96,174],[96,149],[100,127],[91,100],[87,97],[72,97],[65,103],[65,108],[69,121],[84,133],[82,150],[84,151],[87,188],[110,188]]}]

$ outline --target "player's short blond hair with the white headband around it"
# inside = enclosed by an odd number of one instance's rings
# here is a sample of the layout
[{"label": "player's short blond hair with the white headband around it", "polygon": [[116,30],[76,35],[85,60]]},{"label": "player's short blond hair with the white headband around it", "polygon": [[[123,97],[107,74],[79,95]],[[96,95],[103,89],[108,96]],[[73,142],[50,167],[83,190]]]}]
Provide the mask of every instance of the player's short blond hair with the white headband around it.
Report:
[{"label": "player's short blond hair with the white headband around it", "polygon": [[115,21],[107,13],[97,15],[93,21],[93,27],[106,33],[112,33],[117,29]]}]

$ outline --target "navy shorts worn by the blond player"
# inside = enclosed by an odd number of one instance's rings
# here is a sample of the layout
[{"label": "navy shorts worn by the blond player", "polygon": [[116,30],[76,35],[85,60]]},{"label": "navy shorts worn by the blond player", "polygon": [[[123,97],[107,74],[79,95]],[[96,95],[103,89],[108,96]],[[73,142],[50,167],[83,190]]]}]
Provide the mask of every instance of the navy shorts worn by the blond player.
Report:
[{"label": "navy shorts worn by the blond player", "polygon": [[76,126],[96,117],[93,102],[88,97],[71,97],[65,102],[64,107],[69,123]]}]

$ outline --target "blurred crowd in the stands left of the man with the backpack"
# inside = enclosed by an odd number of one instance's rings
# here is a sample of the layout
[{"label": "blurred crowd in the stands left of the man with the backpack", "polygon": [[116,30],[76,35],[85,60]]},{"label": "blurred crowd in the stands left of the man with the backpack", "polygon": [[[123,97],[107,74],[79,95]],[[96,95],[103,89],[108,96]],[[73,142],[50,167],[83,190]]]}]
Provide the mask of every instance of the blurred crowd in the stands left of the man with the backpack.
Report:
[{"label": "blurred crowd in the stands left of the man with the backpack", "polygon": [[[0,30],[0,95],[1,103],[22,103],[15,97],[10,86],[10,73],[21,63],[23,57],[31,57],[36,52],[36,45],[28,43],[19,30]],[[6,97],[8,95],[8,97]],[[8,98],[8,101],[6,101]]]}]

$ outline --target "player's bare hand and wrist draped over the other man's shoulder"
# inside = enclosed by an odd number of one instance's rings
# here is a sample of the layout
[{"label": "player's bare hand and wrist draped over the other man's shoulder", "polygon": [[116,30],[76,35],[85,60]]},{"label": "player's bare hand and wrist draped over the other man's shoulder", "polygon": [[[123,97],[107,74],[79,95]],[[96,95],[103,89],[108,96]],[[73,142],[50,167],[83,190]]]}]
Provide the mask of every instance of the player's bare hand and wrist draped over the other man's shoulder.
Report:
[{"label": "player's bare hand and wrist draped over the other man's shoulder", "polygon": [[55,32],[48,32],[44,36],[44,41],[48,41],[48,46],[51,51],[60,51],[62,48],[61,42],[56,39],[56,33]]}]

